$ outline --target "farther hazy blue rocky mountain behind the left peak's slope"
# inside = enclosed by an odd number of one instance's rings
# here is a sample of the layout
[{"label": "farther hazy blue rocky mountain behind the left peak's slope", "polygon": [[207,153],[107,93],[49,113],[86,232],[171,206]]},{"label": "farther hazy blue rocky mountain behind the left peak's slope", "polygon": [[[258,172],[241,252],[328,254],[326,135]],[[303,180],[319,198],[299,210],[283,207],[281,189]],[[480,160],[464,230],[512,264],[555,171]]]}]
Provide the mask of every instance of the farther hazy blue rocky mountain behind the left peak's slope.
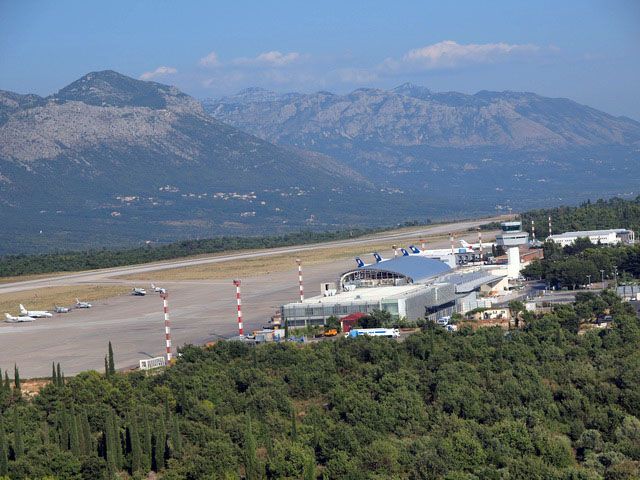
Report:
[{"label": "farther hazy blue rocky mountain behind the left peak's slope", "polygon": [[640,193],[640,123],[568,99],[405,83],[346,95],[252,88],[202,104],[269,142],[330,155],[380,187],[451,209],[523,211]]}]

